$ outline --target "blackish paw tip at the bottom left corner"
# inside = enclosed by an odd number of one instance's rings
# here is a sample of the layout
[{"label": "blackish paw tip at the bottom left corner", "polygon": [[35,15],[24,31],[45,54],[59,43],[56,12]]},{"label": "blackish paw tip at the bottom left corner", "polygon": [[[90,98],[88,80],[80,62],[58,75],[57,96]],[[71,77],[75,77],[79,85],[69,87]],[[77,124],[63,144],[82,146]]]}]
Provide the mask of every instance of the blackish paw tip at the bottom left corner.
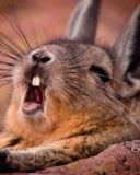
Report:
[{"label": "blackish paw tip at the bottom left corner", "polygon": [[8,150],[0,150],[0,172],[16,172],[19,165],[12,162],[12,158]]}]

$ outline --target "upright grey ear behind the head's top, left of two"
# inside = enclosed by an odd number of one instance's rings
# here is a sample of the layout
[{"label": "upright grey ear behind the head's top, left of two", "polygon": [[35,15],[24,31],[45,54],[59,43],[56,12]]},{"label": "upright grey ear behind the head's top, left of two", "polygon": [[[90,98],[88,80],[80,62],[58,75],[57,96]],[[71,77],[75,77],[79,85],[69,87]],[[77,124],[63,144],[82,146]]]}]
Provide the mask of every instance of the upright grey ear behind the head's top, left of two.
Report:
[{"label": "upright grey ear behind the head's top, left of two", "polygon": [[66,38],[93,43],[101,0],[82,0],[71,18]]}]

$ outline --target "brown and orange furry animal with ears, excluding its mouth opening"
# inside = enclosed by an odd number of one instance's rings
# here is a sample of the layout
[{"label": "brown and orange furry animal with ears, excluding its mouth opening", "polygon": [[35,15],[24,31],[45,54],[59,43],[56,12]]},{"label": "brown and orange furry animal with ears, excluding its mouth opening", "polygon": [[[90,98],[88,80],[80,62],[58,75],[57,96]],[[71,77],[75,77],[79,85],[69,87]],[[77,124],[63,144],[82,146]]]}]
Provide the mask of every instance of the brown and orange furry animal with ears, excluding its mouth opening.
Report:
[{"label": "brown and orange furry animal with ears, excluding its mouth opening", "polygon": [[[65,40],[16,60],[0,172],[66,164],[140,138],[140,4],[108,50],[93,45],[98,7],[98,0],[81,1]],[[43,104],[30,114],[23,106],[34,75],[40,78]]]}]

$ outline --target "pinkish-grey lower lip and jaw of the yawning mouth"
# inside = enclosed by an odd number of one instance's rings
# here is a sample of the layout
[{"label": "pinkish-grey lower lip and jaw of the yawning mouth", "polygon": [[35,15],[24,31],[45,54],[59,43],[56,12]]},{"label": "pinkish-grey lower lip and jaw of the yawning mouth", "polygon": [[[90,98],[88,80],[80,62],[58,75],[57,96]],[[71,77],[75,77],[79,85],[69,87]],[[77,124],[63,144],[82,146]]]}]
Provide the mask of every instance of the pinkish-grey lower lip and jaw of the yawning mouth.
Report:
[{"label": "pinkish-grey lower lip and jaw of the yawning mouth", "polygon": [[32,116],[40,112],[43,108],[42,104],[37,104],[35,102],[27,102],[24,103],[21,107],[21,110],[26,116]]}]

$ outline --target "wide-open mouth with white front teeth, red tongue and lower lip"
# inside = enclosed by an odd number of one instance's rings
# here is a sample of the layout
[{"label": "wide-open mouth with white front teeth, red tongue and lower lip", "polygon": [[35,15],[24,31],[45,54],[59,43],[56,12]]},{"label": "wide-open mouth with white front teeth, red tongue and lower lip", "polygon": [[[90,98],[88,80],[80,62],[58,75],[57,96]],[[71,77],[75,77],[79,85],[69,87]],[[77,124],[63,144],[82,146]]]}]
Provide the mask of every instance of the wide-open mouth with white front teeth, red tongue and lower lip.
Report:
[{"label": "wide-open mouth with white front teeth, red tongue and lower lip", "polygon": [[43,110],[45,86],[40,84],[39,78],[34,77],[22,105],[22,112],[25,115],[34,115],[38,110]]}]

